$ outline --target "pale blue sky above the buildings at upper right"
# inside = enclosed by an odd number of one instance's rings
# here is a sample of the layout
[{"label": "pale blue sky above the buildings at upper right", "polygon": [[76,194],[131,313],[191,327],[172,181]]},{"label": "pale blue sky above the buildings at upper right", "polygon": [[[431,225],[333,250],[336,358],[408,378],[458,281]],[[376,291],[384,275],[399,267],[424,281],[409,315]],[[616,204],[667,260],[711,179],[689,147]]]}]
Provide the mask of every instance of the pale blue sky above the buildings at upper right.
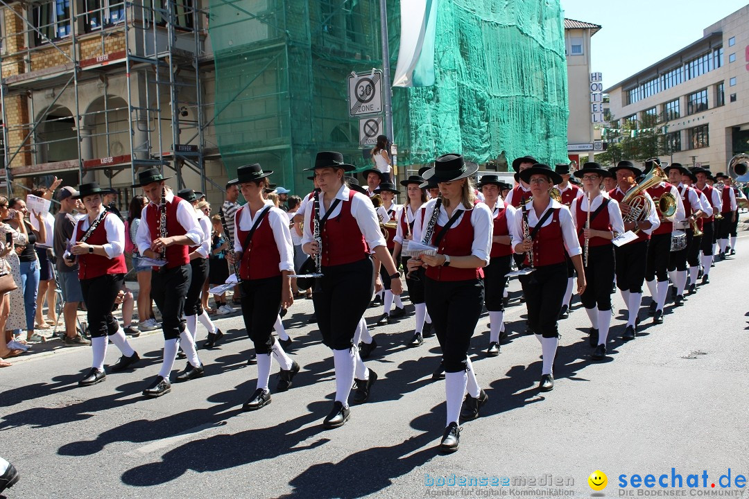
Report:
[{"label": "pale blue sky above the buildings at upper right", "polygon": [[591,71],[604,88],[703,37],[703,29],[746,0],[560,0],[565,17],[601,25],[591,38]]}]

